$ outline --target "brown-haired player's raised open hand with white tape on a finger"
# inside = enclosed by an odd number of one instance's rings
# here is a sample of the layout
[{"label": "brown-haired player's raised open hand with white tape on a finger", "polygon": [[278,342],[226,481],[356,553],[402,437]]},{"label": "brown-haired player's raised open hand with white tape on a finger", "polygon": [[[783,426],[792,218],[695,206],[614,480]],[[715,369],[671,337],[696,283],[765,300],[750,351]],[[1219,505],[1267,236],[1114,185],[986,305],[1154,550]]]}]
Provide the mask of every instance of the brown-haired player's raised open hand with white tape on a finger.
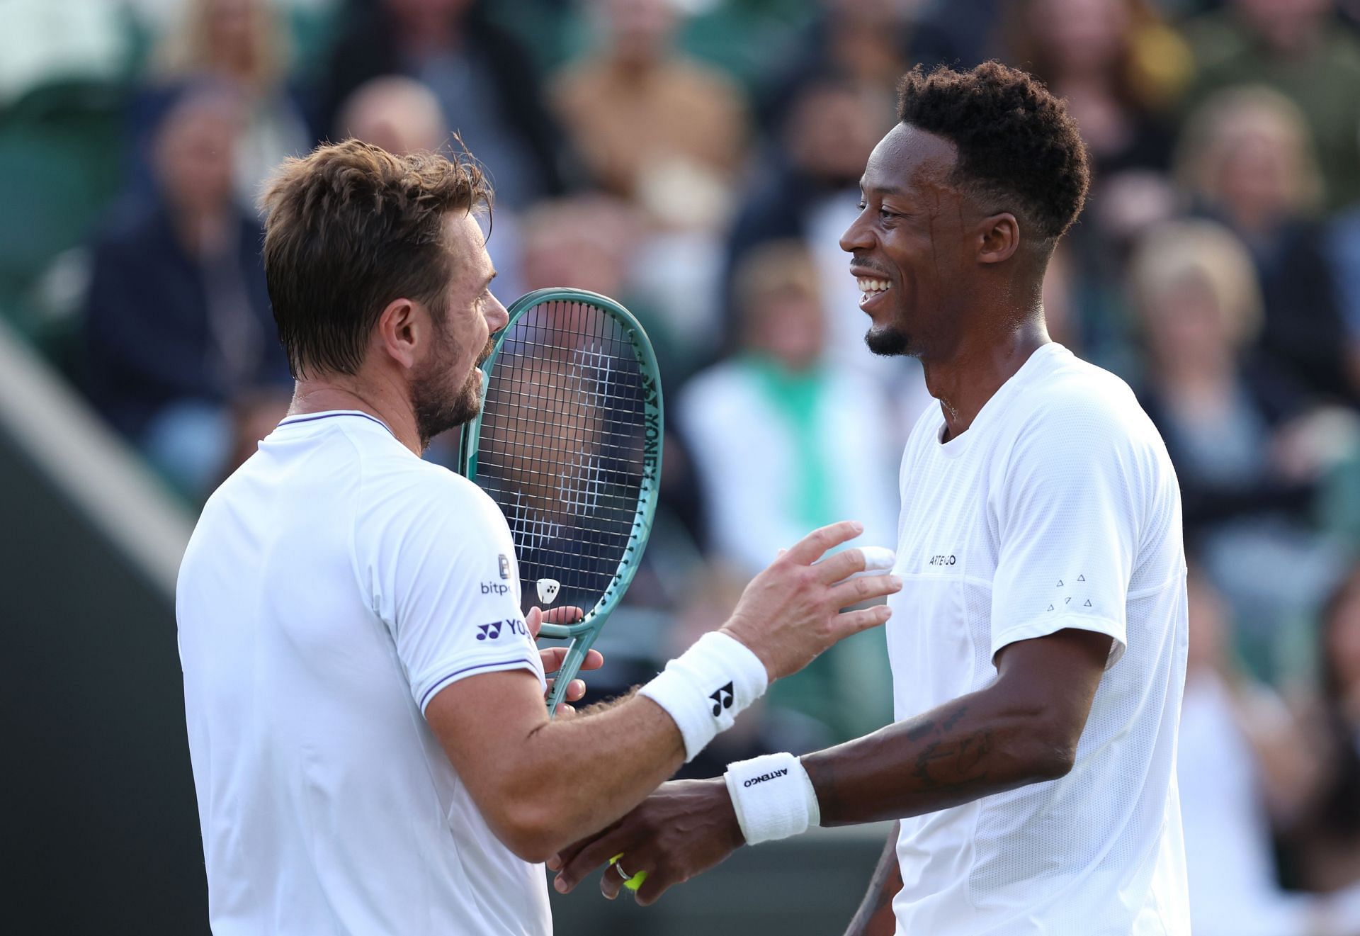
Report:
[{"label": "brown-haired player's raised open hand with white tape on a finger", "polygon": [[722,630],[760,658],[771,682],[798,672],[836,641],[888,620],[892,612],[883,604],[840,609],[902,590],[900,578],[849,578],[865,570],[864,552],[857,548],[821,559],[827,550],[861,532],[864,526],[853,521],[812,531],[741,593]]}]

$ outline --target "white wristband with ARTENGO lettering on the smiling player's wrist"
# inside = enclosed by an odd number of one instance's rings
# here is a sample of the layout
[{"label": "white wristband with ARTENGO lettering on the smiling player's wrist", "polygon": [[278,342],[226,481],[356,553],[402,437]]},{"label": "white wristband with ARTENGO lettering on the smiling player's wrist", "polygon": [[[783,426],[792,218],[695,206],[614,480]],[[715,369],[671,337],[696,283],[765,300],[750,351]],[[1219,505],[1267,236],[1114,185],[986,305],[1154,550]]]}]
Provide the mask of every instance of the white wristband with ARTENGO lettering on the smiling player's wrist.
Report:
[{"label": "white wristband with ARTENGO lettering on the smiling player's wrist", "polygon": [[792,754],[729,763],[724,780],[747,845],[798,835],[821,822],[817,792]]}]

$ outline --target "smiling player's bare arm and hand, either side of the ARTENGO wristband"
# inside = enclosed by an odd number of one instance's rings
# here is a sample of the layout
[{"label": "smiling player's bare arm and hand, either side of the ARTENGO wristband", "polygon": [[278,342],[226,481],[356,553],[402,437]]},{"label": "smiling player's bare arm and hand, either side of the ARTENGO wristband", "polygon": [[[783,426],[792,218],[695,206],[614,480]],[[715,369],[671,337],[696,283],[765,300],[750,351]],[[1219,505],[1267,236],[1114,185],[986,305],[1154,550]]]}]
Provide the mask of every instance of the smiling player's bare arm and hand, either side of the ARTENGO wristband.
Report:
[{"label": "smiling player's bare arm and hand, either side of the ARTENGO wristband", "polygon": [[[804,755],[823,826],[904,819],[1053,780],[1072,769],[1091,713],[1111,638],[1062,630],[1019,641],[997,657],[998,678],[914,718],[873,735]],[[558,890],[568,891],[612,854],[626,852],[649,869],[639,902],[721,861],[711,842],[691,842],[675,829],[713,829],[717,841],[743,841],[722,780],[666,784],[616,827],[564,850]],[[734,848],[734,846],[733,846]],[[605,882],[613,887],[609,879]]]}]

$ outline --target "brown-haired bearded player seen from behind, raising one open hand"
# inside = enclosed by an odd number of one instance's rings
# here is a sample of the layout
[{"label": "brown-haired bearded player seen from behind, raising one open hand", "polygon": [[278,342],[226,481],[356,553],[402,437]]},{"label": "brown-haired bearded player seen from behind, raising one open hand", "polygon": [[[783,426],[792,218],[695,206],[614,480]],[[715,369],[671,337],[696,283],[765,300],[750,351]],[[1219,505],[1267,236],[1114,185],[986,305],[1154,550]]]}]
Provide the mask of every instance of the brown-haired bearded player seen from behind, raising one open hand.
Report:
[{"label": "brown-haired bearded player seen from behind, raising one open hand", "polygon": [[819,562],[860,529],[823,528],[636,694],[549,721],[562,650],[534,648],[506,521],[419,457],[476,415],[506,325],[475,218],[490,197],[468,162],[356,141],[290,161],[265,197],[296,392],[208,501],[177,589],[218,936],[549,933],[547,856],[770,680],[881,624],[887,608],[839,609],[902,585],[847,581],[858,548]]}]

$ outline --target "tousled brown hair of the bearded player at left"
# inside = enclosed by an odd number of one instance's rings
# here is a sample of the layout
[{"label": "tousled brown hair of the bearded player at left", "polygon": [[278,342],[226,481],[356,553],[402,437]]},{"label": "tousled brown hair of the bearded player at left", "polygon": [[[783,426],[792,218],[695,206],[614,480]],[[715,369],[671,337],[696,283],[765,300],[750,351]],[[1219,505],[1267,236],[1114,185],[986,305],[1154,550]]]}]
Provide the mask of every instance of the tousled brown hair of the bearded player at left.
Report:
[{"label": "tousled brown hair of the bearded player at left", "polygon": [[457,263],[445,216],[490,204],[491,184],[465,150],[452,161],[394,156],[345,140],[284,162],[262,199],[264,271],[292,375],[356,373],[393,299],[442,318]]}]

